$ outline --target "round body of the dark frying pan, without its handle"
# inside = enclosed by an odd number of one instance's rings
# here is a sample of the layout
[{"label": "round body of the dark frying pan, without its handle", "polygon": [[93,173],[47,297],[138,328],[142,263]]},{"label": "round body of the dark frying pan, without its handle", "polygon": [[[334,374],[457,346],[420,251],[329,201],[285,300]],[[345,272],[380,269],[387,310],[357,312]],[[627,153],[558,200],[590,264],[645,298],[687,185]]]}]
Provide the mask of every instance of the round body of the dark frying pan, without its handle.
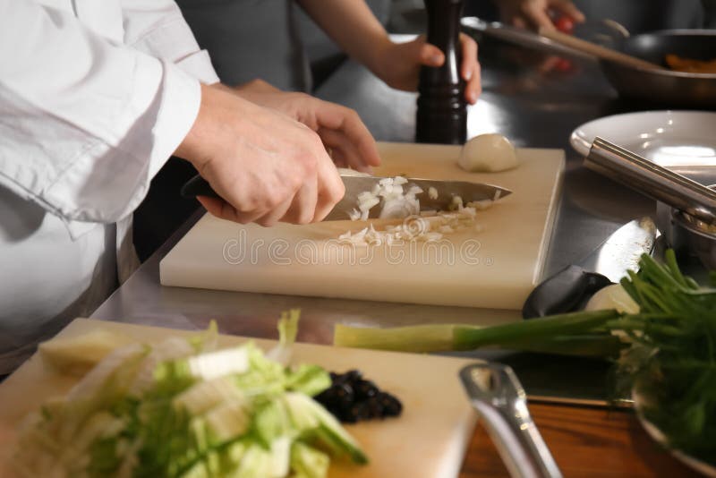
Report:
[{"label": "round body of the dark frying pan, without its handle", "polygon": [[[655,64],[666,55],[716,59],[716,30],[662,30],[619,40],[618,50]],[[675,107],[716,107],[716,74],[643,70],[600,60],[607,79],[626,98]]]}]

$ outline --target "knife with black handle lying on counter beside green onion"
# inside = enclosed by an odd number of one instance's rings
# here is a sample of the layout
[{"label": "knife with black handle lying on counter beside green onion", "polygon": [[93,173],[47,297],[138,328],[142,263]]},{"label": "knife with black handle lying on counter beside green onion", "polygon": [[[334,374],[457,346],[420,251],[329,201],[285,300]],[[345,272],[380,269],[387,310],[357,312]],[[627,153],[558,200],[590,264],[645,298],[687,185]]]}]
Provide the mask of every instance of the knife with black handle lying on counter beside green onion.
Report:
[{"label": "knife with black handle lying on counter beside green onion", "polygon": [[639,269],[639,258],[651,253],[656,238],[652,218],[639,218],[621,226],[577,265],[546,278],[527,297],[524,319],[574,312],[602,287],[618,283],[626,271]]}]

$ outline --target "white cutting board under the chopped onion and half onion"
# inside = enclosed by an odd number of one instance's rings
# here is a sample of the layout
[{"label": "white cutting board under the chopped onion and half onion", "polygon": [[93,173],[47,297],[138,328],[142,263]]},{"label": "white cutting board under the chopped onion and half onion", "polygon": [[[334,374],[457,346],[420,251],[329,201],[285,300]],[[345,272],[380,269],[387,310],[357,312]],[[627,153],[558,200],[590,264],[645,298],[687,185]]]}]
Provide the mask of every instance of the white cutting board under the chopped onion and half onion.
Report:
[{"label": "white cutting board under the chopped onion and half onion", "polygon": [[[481,232],[438,245],[354,248],[337,237],[363,222],[241,226],[201,218],[161,261],[165,286],[371,301],[521,309],[541,278],[564,169],[561,149],[518,149],[522,165],[492,174],[456,166],[459,146],[379,143],[376,175],[497,184],[513,193],[479,212]],[[376,221],[376,225],[379,221]]]}]

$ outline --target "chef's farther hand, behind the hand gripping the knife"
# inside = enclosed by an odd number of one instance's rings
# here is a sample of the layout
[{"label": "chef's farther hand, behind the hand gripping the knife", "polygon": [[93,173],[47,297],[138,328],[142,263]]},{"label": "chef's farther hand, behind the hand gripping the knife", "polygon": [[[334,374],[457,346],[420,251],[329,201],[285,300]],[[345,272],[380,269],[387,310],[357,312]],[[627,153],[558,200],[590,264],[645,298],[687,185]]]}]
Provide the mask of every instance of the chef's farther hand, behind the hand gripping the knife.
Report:
[{"label": "chef's farther hand, behind the hand gripping the knife", "polygon": [[380,165],[375,140],[354,110],[305,93],[277,90],[261,80],[231,90],[262,107],[276,109],[317,132],[336,166],[370,173],[371,166]]}]

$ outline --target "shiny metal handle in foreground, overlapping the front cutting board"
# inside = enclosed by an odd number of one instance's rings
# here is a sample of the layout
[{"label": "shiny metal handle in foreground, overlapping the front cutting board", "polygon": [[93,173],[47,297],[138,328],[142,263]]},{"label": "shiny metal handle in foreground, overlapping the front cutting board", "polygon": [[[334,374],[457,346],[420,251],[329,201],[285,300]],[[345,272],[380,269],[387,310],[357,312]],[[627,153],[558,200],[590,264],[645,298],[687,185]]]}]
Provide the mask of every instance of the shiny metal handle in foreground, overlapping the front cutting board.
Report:
[{"label": "shiny metal handle in foreground, overlapping the front cutting board", "polygon": [[464,367],[460,379],[513,477],[562,476],[530,416],[524,388],[510,367],[476,363]]}]

